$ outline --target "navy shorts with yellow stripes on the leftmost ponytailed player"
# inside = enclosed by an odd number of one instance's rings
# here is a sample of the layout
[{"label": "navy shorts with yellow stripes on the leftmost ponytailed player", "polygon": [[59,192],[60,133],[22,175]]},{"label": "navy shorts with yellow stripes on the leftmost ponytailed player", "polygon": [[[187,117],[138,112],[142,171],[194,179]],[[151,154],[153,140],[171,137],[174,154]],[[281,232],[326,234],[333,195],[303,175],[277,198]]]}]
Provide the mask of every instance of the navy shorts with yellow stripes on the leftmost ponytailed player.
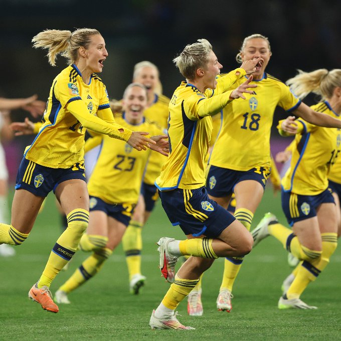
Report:
[{"label": "navy shorts with yellow stripes on the leftmost ponytailed player", "polygon": [[57,186],[67,180],[85,181],[84,162],[75,163],[70,168],[50,168],[23,158],[17,175],[16,190],[23,189],[39,197],[46,197]]}]

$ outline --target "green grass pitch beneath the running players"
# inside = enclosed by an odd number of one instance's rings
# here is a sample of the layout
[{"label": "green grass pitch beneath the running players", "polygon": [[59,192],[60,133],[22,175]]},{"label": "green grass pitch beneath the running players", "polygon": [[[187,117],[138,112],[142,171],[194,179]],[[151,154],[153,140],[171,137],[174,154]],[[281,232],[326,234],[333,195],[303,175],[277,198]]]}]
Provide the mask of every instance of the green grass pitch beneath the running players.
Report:
[{"label": "green grass pitch beneath the running players", "polygon": [[[285,222],[280,196],[271,189],[264,195],[254,217],[254,228],[265,212],[271,211]],[[121,246],[102,271],[69,295],[70,305],[60,304],[58,314],[44,311],[28,299],[28,291],[37,281],[48,255],[60,234],[59,215],[54,197],[47,199],[29,239],[16,248],[15,257],[0,258],[0,339],[1,340],[139,340],[180,337],[182,340],[317,340],[341,338],[341,250],[316,282],[309,285],[302,299],[317,310],[279,310],[283,279],[290,273],[286,251],[269,237],[244,261],[234,286],[233,310],[218,312],[216,298],[223,273],[218,259],[204,275],[204,315],[187,315],[187,300],[179,306],[179,320],[196,330],[154,330],[148,325],[168,285],[160,277],[156,241],[168,236],[183,239],[179,227],[172,227],[158,203],[143,230],[142,271],[146,285],[139,295],[131,295]],[[77,252],[68,271],[62,271],[52,283],[54,293],[87,257]]]}]

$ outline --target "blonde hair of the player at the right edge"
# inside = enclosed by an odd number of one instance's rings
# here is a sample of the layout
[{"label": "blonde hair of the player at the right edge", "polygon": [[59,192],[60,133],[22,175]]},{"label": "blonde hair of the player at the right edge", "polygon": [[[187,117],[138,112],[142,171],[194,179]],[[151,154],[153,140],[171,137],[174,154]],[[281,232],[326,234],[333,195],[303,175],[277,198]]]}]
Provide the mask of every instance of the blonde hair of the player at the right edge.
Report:
[{"label": "blonde hair of the player at the right edge", "polygon": [[341,69],[318,69],[312,72],[297,70],[298,74],[286,81],[291,91],[299,98],[313,92],[321,99],[332,97],[336,87],[341,87]]}]

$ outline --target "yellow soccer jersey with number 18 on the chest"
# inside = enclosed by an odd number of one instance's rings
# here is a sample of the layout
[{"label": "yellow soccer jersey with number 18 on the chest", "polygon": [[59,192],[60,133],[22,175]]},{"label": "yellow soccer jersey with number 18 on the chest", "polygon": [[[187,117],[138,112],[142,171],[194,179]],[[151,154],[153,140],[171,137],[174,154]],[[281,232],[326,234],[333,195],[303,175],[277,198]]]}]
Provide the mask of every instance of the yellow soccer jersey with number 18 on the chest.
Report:
[{"label": "yellow soccer jersey with number 18 on the chest", "polygon": [[[236,85],[245,81],[240,79]],[[264,74],[254,94],[245,94],[223,110],[222,126],[210,164],[246,171],[257,166],[270,167],[270,132],[276,106],[290,111],[300,100],[278,79]]]}]

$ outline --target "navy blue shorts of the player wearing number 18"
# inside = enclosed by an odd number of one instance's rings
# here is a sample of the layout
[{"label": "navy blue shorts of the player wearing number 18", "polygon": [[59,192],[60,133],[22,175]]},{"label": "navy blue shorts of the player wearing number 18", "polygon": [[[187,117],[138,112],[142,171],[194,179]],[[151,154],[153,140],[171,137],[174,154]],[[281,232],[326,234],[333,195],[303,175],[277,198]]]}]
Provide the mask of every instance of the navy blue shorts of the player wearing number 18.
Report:
[{"label": "navy blue shorts of the player wearing number 18", "polygon": [[244,172],[211,165],[206,180],[207,192],[212,197],[226,197],[233,193],[238,183],[245,180],[257,181],[265,188],[270,170],[270,167],[255,167]]}]

